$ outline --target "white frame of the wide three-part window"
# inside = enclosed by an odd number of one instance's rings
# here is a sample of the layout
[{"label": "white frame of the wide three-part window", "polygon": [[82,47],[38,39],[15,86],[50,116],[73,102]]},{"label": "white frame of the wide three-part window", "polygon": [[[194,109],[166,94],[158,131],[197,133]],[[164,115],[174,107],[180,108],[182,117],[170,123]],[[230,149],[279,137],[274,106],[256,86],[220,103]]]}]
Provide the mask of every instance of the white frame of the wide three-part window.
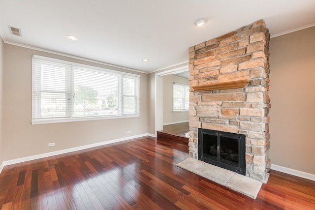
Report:
[{"label": "white frame of the wide three-part window", "polygon": [[[58,91],[58,90],[52,90],[47,92],[56,92],[56,93],[65,93],[65,96],[68,97],[68,100],[66,101],[66,117],[56,117],[56,118],[41,118],[41,92],[35,92],[37,90],[37,87],[40,87],[40,74],[41,72],[36,71],[34,69],[34,66],[36,65],[37,61],[34,60],[43,60],[43,61],[51,61],[51,62],[57,62],[59,64],[65,64],[70,65],[71,69],[68,69],[68,71],[65,72],[65,90],[64,91]],[[133,78],[135,79],[135,90],[134,90],[134,98],[135,98],[135,113],[134,114],[124,114],[123,109],[123,101],[121,101],[121,105],[119,106],[121,114],[117,115],[103,115],[103,116],[74,116],[74,99],[71,99],[74,97],[74,69],[79,68],[83,70],[88,71],[95,71],[98,73],[105,73],[105,74],[114,74],[118,75],[119,79],[119,85],[118,85],[118,100],[122,100],[124,98],[123,95],[123,79],[124,78]],[[39,79],[38,79],[39,77]],[[42,89],[41,89],[42,90]],[[36,99],[37,97],[37,99]],[[38,99],[39,98],[39,99]],[[116,71],[106,68],[100,68],[95,67],[92,65],[85,65],[81,63],[66,61],[66,60],[59,60],[59,59],[53,59],[49,57],[43,57],[38,55],[32,55],[32,124],[47,124],[47,123],[60,123],[60,122],[73,122],[73,121],[90,121],[90,120],[108,120],[108,119],[120,119],[120,118],[134,118],[134,117],[140,117],[140,75],[138,74],[132,74],[127,73],[123,71]]]}]

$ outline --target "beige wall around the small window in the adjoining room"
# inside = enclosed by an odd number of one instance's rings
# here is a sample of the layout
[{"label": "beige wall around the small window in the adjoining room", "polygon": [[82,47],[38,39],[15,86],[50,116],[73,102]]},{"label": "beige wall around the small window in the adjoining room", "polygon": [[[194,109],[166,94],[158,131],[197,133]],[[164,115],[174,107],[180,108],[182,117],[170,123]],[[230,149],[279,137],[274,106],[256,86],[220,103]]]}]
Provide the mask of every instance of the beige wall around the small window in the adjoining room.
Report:
[{"label": "beige wall around the small window in the adjoining room", "polygon": [[163,124],[189,120],[188,111],[173,112],[173,83],[189,85],[189,80],[176,75],[163,76]]}]

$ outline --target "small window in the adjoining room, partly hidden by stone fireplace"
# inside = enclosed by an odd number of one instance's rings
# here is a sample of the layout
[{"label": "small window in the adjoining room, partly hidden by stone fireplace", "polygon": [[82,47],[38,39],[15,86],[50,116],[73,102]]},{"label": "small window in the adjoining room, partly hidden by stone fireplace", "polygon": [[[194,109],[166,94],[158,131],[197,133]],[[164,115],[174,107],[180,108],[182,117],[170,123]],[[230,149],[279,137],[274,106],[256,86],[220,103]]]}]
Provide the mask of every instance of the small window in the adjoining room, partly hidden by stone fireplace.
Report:
[{"label": "small window in the adjoining room, partly hidden by stone fireplace", "polygon": [[189,86],[173,84],[173,111],[189,110]]}]

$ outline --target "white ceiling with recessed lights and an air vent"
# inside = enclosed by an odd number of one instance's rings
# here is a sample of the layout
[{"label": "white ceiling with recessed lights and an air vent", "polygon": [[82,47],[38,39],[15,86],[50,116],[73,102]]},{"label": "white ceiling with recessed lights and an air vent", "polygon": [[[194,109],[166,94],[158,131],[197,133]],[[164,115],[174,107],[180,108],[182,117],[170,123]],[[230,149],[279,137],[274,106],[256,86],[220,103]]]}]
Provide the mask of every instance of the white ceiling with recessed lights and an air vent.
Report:
[{"label": "white ceiling with recessed lights and an air vent", "polygon": [[259,19],[271,35],[315,26],[315,0],[0,0],[5,43],[143,72],[184,63],[189,47]]}]

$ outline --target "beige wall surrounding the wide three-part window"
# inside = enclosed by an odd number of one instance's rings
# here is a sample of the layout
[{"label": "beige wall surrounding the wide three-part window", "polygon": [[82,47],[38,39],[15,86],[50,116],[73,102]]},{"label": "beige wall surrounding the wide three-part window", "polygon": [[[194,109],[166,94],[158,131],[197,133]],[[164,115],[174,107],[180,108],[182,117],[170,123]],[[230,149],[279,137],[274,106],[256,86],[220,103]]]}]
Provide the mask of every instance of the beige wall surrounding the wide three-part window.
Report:
[{"label": "beige wall surrounding the wide three-part window", "polygon": [[[113,70],[93,62],[76,60],[28,48],[4,44],[3,161],[65,150],[148,132],[148,75],[140,74],[140,117],[32,125],[32,55],[69,60]],[[127,130],[131,133],[127,134]],[[55,147],[48,143],[55,142]]]}]

